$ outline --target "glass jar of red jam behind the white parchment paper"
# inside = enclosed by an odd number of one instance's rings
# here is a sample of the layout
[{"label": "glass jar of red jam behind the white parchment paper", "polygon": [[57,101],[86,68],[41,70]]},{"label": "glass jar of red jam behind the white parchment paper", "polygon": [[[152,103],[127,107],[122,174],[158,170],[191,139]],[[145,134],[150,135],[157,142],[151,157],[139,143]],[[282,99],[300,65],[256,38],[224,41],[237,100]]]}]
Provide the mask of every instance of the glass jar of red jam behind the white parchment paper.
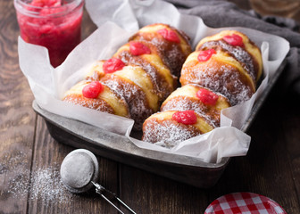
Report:
[{"label": "glass jar of red jam behind the white parchment paper", "polygon": [[21,38],[48,49],[50,62],[60,65],[81,41],[84,0],[14,0]]}]

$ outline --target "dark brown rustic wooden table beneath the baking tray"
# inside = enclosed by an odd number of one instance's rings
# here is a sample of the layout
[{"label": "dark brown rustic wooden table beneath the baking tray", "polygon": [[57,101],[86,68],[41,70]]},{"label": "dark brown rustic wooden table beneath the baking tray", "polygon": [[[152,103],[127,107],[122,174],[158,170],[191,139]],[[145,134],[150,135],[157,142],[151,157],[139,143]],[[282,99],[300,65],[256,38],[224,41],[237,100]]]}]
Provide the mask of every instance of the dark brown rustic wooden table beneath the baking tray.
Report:
[{"label": "dark brown rustic wooden table beneath the baking tray", "polygon": [[[87,13],[83,26],[83,37],[95,29]],[[0,213],[117,213],[96,193],[72,195],[63,189],[58,170],[74,148],[54,141],[32,110],[34,98],[18,63],[19,27],[12,0],[0,2],[0,30]],[[287,213],[300,213],[296,100],[299,96],[283,91],[280,81],[276,84],[248,131],[248,154],[232,159],[210,189],[97,157],[99,183],[137,213],[204,213],[214,199],[235,192],[260,193]]]}]

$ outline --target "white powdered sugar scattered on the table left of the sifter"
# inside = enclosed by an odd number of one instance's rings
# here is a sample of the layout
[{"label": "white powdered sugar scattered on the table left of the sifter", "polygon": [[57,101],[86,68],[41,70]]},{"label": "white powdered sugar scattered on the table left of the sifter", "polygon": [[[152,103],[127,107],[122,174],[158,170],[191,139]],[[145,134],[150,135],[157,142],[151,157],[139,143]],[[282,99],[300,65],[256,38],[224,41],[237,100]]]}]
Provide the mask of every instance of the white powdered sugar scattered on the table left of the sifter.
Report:
[{"label": "white powdered sugar scattered on the table left of the sifter", "polygon": [[46,203],[69,203],[76,197],[63,185],[57,167],[37,169],[32,174],[28,169],[22,170],[10,180],[8,193],[16,198],[28,195],[29,200]]}]

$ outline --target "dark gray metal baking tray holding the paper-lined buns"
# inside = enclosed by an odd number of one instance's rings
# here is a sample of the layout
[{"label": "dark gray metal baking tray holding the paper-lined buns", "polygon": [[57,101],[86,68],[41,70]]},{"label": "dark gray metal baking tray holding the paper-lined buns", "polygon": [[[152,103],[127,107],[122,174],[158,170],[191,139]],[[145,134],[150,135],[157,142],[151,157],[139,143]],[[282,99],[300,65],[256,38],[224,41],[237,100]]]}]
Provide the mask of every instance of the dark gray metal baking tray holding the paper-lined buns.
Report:
[{"label": "dark gray metal baking tray holding the paper-lined buns", "polygon": [[[264,94],[254,103],[252,113],[241,129],[243,132],[246,132],[254,121],[254,117],[271,92],[272,86],[279,79],[285,65],[286,61],[281,63],[273,78],[270,79]],[[44,111],[39,108],[36,101],[33,101],[32,106],[34,111],[45,119],[49,133],[56,141],[75,148],[85,148],[112,161],[119,161],[188,185],[201,188],[212,187],[217,183],[230,160],[230,158],[223,158],[220,163],[206,163],[192,157],[142,149],[131,143],[126,136]],[[176,159],[174,155],[177,156]]]}]

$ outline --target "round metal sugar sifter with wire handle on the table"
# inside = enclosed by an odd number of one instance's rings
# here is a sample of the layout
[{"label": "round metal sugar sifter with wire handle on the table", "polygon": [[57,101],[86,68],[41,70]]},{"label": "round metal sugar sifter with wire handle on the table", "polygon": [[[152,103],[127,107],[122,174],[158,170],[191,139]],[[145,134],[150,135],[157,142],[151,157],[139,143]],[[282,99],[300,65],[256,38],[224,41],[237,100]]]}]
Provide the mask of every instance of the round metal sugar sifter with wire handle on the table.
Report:
[{"label": "round metal sugar sifter with wire handle on the table", "polygon": [[99,165],[96,156],[85,149],[77,149],[70,152],[63,160],[61,166],[61,177],[63,185],[71,193],[84,193],[96,187],[96,193],[100,194],[106,202],[109,202],[120,213],[121,211],[109,198],[113,201],[121,203],[131,213],[136,214],[129,206],[122,202],[115,193],[104,188],[104,186],[97,184],[99,174]]}]

